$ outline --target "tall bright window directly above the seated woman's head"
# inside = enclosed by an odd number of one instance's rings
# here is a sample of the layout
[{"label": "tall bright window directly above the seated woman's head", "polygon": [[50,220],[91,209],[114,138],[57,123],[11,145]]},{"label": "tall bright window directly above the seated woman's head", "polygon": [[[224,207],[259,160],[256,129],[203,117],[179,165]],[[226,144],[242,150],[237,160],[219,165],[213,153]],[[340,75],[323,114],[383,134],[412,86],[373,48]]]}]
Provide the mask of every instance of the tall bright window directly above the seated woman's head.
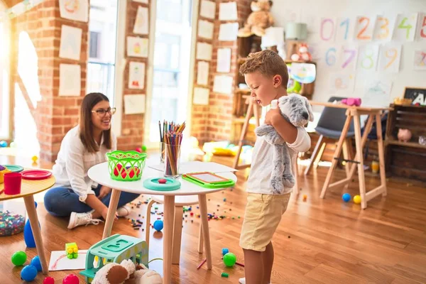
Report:
[{"label": "tall bright window directly above the seated woman's head", "polygon": [[114,104],[119,0],[90,1],[87,93],[101,92]]}]

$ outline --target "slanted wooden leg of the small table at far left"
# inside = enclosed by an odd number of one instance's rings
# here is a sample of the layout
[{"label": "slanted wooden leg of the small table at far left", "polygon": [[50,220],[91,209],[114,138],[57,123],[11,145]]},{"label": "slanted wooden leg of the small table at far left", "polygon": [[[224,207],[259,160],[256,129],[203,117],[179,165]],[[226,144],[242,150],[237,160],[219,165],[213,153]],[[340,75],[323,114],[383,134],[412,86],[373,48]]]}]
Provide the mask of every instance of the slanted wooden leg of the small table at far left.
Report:
[{"label": "slanted wooden leg of the small table at far left", "polygon": [[35,246],[37,247],[38,257],[40,258],[41,268],[43,274],[48,274],[49,266],[46,261],[45,251],[43,247],[43,239],[41,239],[40,227],[38,226],[38,216],[37,210],[35,209],[34,197],[33,195],[28,195],[23,197],[25,202],[25,207],[28,212],[28,218],[30,219],[31,230],[33,231]]}]

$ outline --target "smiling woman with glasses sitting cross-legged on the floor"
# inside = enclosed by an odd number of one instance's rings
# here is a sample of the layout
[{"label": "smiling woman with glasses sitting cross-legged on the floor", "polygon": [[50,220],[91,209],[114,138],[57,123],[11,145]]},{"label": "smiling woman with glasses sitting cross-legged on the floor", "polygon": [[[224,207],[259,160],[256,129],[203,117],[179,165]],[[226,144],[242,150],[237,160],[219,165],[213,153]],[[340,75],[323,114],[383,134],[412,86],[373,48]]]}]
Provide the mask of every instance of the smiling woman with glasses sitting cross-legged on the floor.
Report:
[{"label": "smiling woman with glasses sitting cross-legged on the floor", "polygon": [[[80,109],[80,124],[68,131],[62,140],[53,165],[57,187],[46,192],[44,201],[45,208],[53,216],[70,216],[68,229],[99,224],[100,217],[107,219],[111,188],[90,180],[87,171],[106,162],[105,154],[116,150],[116,136],[111,131],[114,112],[107,96],[87,94]],[[138,196],[121,192],[116,216],[128,215],[129,208],[124,205]]]}]

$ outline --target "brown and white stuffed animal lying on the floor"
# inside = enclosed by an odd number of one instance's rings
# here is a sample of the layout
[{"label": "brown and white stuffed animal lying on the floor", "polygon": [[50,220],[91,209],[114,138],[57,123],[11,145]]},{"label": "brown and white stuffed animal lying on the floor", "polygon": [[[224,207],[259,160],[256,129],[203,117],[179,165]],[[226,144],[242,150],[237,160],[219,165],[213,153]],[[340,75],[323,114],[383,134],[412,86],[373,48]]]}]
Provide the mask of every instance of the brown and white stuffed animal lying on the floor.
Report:
[{"label": "brown and white stuffed animal lying on the floor", "polygon": [[121,263],[108,263],[97,271],[92,284],[163,284],[160,274],[143,264],[135,265],[125,259]]}]

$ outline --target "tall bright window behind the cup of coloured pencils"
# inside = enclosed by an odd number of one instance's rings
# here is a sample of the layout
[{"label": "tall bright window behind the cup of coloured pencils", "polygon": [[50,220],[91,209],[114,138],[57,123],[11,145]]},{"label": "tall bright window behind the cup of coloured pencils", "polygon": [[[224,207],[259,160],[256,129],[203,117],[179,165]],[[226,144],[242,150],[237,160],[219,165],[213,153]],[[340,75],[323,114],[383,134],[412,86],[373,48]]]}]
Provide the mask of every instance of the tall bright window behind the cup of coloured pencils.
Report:
[{"label": "tall bright window behind the cup of coloured pencils", "polygon": [[192,0],[155,1],[152,89],[147,89],[144,135],[144,144],[151,147],[160,141],[158,121],[188,124],[192,50]]}]

